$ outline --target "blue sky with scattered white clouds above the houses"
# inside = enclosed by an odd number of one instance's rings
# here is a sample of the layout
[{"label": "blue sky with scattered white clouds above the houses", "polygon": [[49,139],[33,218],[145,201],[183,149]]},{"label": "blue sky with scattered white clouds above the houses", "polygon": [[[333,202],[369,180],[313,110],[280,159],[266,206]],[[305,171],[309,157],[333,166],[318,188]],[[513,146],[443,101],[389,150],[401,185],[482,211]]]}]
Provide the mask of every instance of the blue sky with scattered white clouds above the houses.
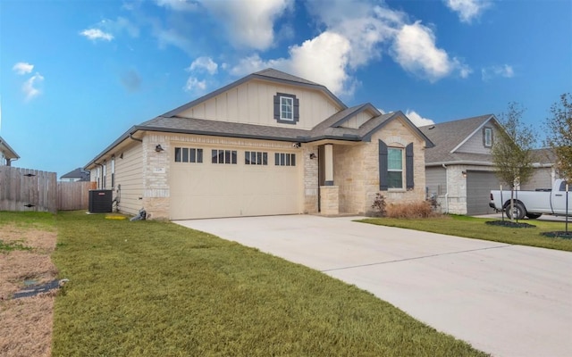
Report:
[{"label": "blue sky with scattered white clouds above the houses", "polygon": [[572,91],[572,2],[0,1],[14,166],[87,164],[132,125],[267,67],[421,124]]}]

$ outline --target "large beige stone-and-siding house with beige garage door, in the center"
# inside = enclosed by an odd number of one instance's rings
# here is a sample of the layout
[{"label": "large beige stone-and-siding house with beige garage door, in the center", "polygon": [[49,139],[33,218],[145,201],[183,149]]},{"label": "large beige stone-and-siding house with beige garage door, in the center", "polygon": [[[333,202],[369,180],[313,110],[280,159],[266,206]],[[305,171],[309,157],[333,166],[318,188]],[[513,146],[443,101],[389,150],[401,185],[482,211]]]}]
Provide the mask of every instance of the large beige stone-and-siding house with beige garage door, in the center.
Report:
[{"label": "large beige stone-and-siding house with beige garage door, in the center", "polygon": [[431,146],[402,112],[267,69],[132,127],[86,169],[153,219],[357,214],[380,191],[424,200]]}]

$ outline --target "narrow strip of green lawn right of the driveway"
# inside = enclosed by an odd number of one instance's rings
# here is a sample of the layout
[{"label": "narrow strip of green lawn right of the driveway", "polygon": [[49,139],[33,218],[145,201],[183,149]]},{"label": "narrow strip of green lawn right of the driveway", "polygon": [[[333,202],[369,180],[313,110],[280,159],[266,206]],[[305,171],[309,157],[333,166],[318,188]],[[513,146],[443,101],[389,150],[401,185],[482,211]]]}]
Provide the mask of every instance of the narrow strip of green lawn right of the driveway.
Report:
[{"label": "narrow strip of green lawn right of the driveway", "polygon": [[[441,233],[450,236],[467,237],[508,243],[510,245],[530,245],[561,251],[572,251],[572,239],[551,238],[541,235],[542,232],[562,231],[564,223],[546,220],[526,220],[534,228],[507,228],[485,224],[492,219],[468,216],[443,216],[428,219],[397,220],[390,218],[375,218],[359,220],[360,222],[423,230],[425,232]],[[572,228],[572,224],[570,224]]]}]

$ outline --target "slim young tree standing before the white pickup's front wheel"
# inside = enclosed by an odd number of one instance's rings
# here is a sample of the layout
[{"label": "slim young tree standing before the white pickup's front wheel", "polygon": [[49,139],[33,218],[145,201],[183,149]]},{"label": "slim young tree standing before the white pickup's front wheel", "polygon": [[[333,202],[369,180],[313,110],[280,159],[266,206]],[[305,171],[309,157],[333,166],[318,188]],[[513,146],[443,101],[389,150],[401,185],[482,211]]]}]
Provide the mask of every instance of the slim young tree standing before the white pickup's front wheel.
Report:
[{"label": "slim young tree standing before the white pickup's front wheel", "polygon": [[524,208],[514,203],[515,187],[526,184],[533,174],[534,145],[537,135],[532,126],[522,122],[525,109],[517,103],[509,103],[507,112],[499,114],[502,129],[492,143],[492,163],[501,183],[510,187],[510,220],[524,214]]}]

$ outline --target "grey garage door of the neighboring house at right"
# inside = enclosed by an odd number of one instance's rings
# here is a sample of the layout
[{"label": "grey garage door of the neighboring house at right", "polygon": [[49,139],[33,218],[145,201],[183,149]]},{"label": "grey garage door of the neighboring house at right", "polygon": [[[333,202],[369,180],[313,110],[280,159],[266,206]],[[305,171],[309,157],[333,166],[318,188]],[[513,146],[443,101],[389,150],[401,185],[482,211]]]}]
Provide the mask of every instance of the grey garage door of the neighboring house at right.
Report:
[{"label": "grey garage door of the neighboring house at right", "polygon": [[492,172],[467,171],[467,214],[493,213],[489,207],[491,190],[499,189],[499,180]]}]

